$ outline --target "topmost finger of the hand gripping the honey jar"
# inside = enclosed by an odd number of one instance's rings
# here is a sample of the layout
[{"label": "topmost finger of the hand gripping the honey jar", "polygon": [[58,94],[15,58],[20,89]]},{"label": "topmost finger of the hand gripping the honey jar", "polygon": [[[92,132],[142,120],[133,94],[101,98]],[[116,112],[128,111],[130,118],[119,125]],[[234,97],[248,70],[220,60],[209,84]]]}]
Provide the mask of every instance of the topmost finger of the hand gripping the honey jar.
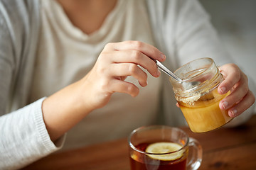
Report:
[{"label": "topmost finger of the hand gripping the honey jar", "polygon": [[235,64],[225,64],[220,67],[220,72],[225,79],[218,86],[218,93],[225,94],[240,80],[240,69]]}]

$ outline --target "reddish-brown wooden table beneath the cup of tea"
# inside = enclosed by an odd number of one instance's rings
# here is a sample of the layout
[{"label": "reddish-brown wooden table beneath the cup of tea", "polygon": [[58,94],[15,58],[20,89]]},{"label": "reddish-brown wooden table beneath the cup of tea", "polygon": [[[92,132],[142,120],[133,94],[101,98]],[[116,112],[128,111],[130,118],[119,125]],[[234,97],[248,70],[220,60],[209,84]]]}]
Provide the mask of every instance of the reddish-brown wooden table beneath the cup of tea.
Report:
[{"label": "reddish-brown wooden table beneath the cup of tea", "polygon": [[[256,115],[238,128],[220,128],[201,134],[182,129],[203,146],[200,170],[256,169]],[[50,154],[25,169],[128,170],[127,139]]]}]

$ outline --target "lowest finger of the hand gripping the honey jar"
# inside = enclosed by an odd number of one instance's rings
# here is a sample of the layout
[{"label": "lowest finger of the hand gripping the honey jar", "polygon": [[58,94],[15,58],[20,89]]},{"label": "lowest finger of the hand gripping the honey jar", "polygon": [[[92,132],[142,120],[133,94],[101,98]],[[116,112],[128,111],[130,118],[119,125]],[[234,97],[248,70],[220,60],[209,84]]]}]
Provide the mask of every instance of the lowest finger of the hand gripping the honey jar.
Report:
[{"label": "lowest finger of the hand gripping the honey jar", "polygon": [[250,108],[253,103],[255,103],[255,96],[252,94],[252,91],[248,91],[242,101],[240,101],[233,108],[230,108],[230,110],[228,111],[228,115],[232,118],[236,117],[245,110],[247,110],[247,108]]}]

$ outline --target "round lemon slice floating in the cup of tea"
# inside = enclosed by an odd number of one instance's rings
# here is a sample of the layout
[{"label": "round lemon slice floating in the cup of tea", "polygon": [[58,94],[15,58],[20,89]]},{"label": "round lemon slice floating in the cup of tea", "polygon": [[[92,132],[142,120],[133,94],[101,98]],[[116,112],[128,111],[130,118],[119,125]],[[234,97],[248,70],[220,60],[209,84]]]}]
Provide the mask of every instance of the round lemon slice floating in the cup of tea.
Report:
[{"label": "round lemon slice floating in the cup of tea", "polygon": [[148,156],[153,159],[159,159],[162,161],[174,161],[182,157],[183,150],[175,152],[181,148],[181,145],[178,145],[177,143],[174,142],[156,142],[146,147],[146,152],[150,153],[148,154]]}]

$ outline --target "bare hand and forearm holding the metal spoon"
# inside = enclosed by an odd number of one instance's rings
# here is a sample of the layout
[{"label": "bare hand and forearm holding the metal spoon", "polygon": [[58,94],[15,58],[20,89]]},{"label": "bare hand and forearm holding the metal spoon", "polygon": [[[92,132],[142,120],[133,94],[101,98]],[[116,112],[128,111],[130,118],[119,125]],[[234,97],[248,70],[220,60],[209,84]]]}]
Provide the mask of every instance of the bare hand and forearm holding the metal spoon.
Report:
[{"label": "bare hand and forearm holding the metal spoon", "polygon": [[159,77],[154,60],[163,62],[165,58],[156,47],[144,42],[107,44],[84,78],[43,101],[43,120],[50,139],[55,141],[88,113],[105,106],[114,92],[137,96],[138,87],[125,81],[126,77],[132,76],[146,86],[147,74],[140,67]]}]

